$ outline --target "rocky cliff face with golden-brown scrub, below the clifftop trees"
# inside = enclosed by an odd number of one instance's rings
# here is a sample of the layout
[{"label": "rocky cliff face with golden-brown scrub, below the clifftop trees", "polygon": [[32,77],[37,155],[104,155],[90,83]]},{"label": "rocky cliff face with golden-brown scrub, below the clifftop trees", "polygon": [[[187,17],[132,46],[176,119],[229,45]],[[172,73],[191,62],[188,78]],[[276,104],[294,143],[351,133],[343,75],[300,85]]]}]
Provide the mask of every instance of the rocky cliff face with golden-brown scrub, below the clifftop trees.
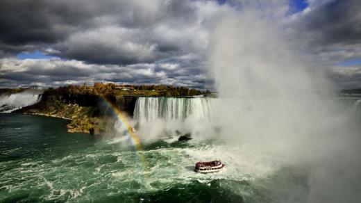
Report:
[{"label": "rocky cliff face with golden-brown scrub, below the clifftop trees", "polygon": [[[133,116],[137,97],[108,96],[119,110]],[[39,103],[16,111],[17,113],[44,115],[71,120],[67,125],[69,133],[102,134],[115,120],[110,109],[102,105],[98,95],[54,95],[45,91]],[[109,128],[111,129],[111,128]]]}]

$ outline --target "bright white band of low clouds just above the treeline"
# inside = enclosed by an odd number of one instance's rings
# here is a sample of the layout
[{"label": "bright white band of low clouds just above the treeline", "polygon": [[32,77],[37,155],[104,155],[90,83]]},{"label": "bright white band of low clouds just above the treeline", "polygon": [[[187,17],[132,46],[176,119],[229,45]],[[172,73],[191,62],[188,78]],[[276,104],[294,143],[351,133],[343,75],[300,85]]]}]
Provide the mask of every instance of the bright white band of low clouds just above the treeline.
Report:
[{"label": "bright white band of low clouds just above the treeline", "polygon": [[132,65],[97,65],[80,60],[0,59],[0,86],[64,86],[69,83],[92,84],[94,81],[166,84],[204,88],[205,74],[198,68],[183,67],[181,60],[173,63],[137,63]]}]

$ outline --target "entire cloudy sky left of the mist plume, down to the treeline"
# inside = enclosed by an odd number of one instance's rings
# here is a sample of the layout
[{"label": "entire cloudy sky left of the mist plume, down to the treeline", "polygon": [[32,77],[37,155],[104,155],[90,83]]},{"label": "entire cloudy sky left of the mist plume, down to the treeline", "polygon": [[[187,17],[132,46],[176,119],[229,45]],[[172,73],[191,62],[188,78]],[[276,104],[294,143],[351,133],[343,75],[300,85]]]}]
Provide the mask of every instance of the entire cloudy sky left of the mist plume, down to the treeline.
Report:
[{"label": "entire cloudy sky left of the mist plume, down to the treeline", "polygon": [[[230,10],[217,1],[4,0],[0,84],[113,81],[202,87],[210,31]],[[22,51],[62,60],[12,58]]]}]

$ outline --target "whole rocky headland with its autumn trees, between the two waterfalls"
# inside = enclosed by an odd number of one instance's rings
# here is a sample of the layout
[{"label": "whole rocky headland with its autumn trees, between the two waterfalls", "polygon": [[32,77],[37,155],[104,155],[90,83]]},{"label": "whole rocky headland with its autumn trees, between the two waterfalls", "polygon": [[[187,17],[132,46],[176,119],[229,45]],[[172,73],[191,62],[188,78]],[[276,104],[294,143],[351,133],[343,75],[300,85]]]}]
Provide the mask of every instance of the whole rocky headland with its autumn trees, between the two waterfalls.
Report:
[{"label": "whole rocky headland with its autumn trees, between the two waterfalls", "polygon": [[199,90],[174,86],[119,86],[114,83],[71,85],[49,88],[42,93],[40,102],[17,112],[72,120],[67,125],[69,133],[101,134],[115,122],[112,109],[106,104],[108,102],[133,117],[138,97],[187,97],[201,93]]}]

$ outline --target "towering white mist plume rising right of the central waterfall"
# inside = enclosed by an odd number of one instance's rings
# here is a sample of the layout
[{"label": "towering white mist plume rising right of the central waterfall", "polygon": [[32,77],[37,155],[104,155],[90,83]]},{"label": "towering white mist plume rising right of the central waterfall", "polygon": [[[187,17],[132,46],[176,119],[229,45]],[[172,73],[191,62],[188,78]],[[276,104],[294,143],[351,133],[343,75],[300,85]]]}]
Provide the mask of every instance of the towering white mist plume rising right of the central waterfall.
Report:
[{"label": "towering white mist plume rising right of the central waterfall", "polygon": [[302,40],[285,34],[285,17],[242,9],[210,40],[221,137],[305,172],[305,188],[276,202],[359,202],[360,132],[351,115],[336,111],[338,101],[320,93],[333,84],[321,65],[304,60]]}]

